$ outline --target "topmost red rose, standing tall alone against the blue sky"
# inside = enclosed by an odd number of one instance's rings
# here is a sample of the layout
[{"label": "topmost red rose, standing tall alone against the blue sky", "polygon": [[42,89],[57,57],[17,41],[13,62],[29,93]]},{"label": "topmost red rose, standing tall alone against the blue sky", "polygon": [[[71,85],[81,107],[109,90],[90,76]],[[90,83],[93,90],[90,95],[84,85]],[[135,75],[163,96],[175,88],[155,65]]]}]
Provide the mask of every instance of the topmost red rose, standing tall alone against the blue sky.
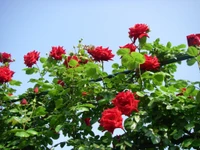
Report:
[{"label": "topmost red rose, standing tall alone against the blue sky", "polygon": [[149,27],[146,24],[136,24],[133,27],[129,28],[129,37],[133,38],[133,43],[137,40],[137,38],[142,38],[144,36],[148,36]]}]

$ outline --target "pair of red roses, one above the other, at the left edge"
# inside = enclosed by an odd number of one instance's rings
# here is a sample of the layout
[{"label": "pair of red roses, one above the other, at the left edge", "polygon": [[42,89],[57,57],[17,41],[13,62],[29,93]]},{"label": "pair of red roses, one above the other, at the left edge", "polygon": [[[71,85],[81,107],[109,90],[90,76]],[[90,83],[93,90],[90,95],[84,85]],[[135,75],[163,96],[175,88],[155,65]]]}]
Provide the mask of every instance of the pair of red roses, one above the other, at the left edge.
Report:
[{"label": "pair of red roses, one above the other, at the left edge", "polygon": [[11,54],[6,52],[0,53],[0,62],[3,64],[0,66],[0,83],[6,83],[12,80],[14,71],[10,70],[9,63],[12,62]]}]

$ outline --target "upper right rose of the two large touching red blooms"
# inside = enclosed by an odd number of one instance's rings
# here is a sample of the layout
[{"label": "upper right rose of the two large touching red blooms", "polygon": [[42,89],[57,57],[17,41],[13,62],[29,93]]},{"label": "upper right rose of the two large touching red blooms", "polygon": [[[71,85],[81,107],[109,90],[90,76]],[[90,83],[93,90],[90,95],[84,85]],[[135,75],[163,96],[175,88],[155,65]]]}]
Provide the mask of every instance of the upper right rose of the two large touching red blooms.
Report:
[{"label": "upper right rose of the two large touching red blooms", "polygon": [[112,103],[126,116],[130,116],[133,111],[138,111],[139,100],[136,100],[130,91],[118,93]]}]

